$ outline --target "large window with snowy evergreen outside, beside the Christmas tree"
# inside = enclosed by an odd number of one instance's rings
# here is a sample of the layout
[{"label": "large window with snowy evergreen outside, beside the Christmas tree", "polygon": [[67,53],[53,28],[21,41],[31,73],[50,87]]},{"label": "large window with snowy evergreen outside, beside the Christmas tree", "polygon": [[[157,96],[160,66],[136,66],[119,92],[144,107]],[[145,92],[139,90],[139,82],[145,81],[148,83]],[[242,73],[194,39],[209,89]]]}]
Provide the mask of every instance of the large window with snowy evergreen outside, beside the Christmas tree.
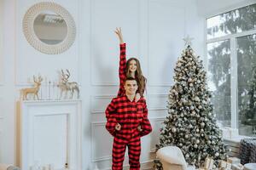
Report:
[{"label": "large window with snowy evergreen outside, beside the Christmas tree", "polygon": [[207,19],[207,70],[218,122],[256,136],[256,4]]}]

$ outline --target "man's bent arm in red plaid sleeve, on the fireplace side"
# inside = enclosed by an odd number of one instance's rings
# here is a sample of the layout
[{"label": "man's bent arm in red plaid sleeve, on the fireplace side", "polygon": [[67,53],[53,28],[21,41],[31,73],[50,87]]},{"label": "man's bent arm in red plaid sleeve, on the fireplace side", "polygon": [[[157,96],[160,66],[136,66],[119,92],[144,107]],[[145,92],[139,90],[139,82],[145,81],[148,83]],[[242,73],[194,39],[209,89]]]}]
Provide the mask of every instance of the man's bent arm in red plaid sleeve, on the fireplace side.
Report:
[{"label": "man's bent arm in red plaid sleeve, on the fireplace side", "polygon": [[113,136],[115,135],[115,126],[118,124],[114,117],[114,113],[116,110],[116,105],[114,104],[114,101],[112,99],[111,103],[108,105],[105,113],[107,118],[106,128],[110,134]]}]

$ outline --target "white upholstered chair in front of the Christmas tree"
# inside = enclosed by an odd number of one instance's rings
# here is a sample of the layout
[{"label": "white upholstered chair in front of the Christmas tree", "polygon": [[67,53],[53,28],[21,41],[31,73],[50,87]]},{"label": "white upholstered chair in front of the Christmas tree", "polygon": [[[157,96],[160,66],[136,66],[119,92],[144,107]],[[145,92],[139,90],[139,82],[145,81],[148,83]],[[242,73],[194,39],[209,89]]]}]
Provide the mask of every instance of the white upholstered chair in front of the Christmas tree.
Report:
[{"label": "white upholstered chair in front of the Christmas tree", "polygon": [[195,170],[194,166],[187,166],[182,150],[177,146],[166,146],[156,152],[164,170]]}]

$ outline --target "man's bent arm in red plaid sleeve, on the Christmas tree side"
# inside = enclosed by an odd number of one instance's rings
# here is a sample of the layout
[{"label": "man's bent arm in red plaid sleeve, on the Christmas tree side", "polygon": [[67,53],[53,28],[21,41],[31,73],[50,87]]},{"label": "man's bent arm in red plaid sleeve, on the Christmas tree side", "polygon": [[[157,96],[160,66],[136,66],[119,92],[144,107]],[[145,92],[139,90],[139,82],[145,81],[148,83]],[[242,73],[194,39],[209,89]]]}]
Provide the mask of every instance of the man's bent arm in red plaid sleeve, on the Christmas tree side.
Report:
[{"label": "man's bent arm in red plaid sleeve, on the Christmas tree side", "polygon": [[145,136],[148,133],[152,132],[152,127],[148,120],[148,108],[147,108],[145,99],[143,99],[143,122],[141,123],[141,129],[142,129],[140,132],[141,136]]}]

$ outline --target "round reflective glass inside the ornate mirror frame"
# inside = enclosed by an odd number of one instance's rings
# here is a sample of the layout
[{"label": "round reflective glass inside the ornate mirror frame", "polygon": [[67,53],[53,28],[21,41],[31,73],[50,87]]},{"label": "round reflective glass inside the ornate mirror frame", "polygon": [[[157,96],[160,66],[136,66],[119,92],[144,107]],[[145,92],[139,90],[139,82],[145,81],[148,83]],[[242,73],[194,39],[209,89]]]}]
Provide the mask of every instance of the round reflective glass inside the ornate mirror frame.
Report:
[{"label": "round reflective glass inside the ornate mirror frame", "polygon": [[33,23],[33,29],[41,42],[58,44],[67,37],[67,23],[60,14],[42,11]]}]

